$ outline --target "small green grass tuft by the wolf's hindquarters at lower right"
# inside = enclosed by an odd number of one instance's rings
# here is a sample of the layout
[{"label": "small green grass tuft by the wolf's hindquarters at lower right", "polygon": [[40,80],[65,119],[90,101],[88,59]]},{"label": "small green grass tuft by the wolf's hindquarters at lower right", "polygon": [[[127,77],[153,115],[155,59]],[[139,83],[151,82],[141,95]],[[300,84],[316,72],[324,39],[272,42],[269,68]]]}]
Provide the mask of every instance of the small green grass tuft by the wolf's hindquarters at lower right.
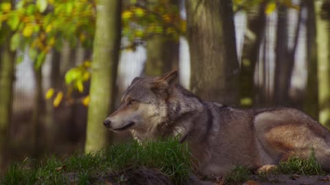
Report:
[{"label": "small green grass tuft by the wolf's hindquarters at lower right", "polygon": [[321,165],[315,157],[314,149],[311,149],[309,158],[301,159],[297,156],[290,156],[287,161],[281,161],[278,164],[278,171],[281,173],[291,175],[325,175]]}]

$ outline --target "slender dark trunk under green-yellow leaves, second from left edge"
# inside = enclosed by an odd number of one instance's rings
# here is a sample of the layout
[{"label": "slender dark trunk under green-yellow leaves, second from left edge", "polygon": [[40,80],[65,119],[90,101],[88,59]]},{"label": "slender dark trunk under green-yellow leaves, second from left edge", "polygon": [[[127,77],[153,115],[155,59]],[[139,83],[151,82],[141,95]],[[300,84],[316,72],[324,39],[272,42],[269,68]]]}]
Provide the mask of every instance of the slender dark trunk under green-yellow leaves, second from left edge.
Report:
[{"label": "slender dark trunk under green-yellow leaves, second from left edge", "polygon": [[[41,66],[42,67],[42,66]],[[34,108],[32,112],[32,127],[34,129],[33,143],[34,143],[34,158],[39,158],[41,148],[41,119],[43,116],[43,74],[41,67],[34,69],[34,81],[36,88],[34,91]]]}]

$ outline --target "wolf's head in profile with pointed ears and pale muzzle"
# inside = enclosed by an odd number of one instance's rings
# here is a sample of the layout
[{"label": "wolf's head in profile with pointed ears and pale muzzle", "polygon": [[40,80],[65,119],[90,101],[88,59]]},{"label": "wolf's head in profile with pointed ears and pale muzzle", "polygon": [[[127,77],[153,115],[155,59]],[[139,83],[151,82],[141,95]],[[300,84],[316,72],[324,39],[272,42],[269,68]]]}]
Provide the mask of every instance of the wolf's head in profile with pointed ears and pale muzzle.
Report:
[{"label": "wolf's head in profile with pointed ears and pale muzzle", "polygon": [[104,125],[115,132],[150,132],[166,121],[166,99],[176,79],[177,71],[162,77],[135,77],[122,95],[120,107],[105,119]]}]

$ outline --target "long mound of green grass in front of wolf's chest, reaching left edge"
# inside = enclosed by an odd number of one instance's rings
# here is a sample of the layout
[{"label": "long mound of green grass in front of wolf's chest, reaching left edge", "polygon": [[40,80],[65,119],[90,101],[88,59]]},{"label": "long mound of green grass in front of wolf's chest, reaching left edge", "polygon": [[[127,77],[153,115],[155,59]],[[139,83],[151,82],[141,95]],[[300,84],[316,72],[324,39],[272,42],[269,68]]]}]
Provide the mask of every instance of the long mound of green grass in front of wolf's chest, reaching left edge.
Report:
[{"label": "long mound of green grass in front of wolf's chest, reaching left edge", "polygon": [[190,153],[177,138],[138,144],[135,141],[112,145],[96,153],[47,160],[14,162],[0,184],[91,184],[96,178],[116,171],[146,167],[157,169],[174,184],[180,184],[190,173]]}]

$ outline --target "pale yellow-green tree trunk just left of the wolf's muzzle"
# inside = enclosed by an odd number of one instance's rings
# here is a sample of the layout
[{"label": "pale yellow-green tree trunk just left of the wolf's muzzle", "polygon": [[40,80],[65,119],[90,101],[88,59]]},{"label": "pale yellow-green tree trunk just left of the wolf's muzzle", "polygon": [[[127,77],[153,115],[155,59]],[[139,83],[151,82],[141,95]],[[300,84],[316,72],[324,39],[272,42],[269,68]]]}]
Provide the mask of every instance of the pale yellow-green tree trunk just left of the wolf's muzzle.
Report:
[{"label": "pale yellow-green tree trunk just left of the wolf's muzzle", "polygon": [[102,149],[107,143],[109,131],[102,123],[113,110],[121,38],[121,1],[99,0],[96,8],[86,153]]}]

